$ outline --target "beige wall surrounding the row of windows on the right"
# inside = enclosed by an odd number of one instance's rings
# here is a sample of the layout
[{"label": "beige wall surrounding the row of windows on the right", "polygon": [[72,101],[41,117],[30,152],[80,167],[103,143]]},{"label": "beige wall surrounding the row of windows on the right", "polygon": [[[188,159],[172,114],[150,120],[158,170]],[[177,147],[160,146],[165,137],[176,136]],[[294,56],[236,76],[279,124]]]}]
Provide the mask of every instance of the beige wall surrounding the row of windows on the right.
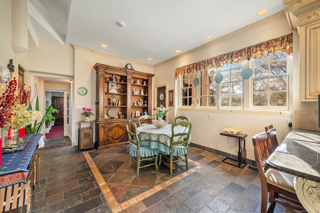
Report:
[{"label": "beige wall surrounding the row of windows on the right", "polygon": [[[289,28],[284,12],[277,13],[258,23],[253,23],[236,32],[232,32],[223,38],[213,40],[202,47],[190,51],[188,54],[182,54],[181,56],[156,65],[154,68],[154,84],[161,84],[168,81],[167,89],[174,88],[175,91],[178,91],[179,88],[175,87],[174,84],[175,68],[280,37],[290,32],[292,32],[292,30]],[[232,139],[231,142],[228,142],[228,138],[219,135],[219,133],[227,127],[243,129],[242,133],[247,134],[247,158],[254,160],[252,137],[256,133],[264,131],[265,125],[273,124],[277,130],[278,141],[282,141],[290,130],[287,126],[287,119],[292,118],[293,110],[302,105],[313,109],[316,109],[317,106],[317,104],[314,103],[300,103],[298,101],[298,86],[296,86],[298,85],[298,34],[296,31],[293,32],[293,39],[293,68],[289,74],[291,98],[289,111],[253,112],[249,110],[213,110],[210,108],[190,109],[183,107],[178,108],[177,104],[175,104],[174,108],[169,111],[169,122],[173,121],[176,113],[185,115],[192,121],[192,142],[235,155],[238,150],[236,140]],[[175,93],[176,103],[178,95],[177,92]],[[209,113],[212,114],[211,119],[208,118]]]}]

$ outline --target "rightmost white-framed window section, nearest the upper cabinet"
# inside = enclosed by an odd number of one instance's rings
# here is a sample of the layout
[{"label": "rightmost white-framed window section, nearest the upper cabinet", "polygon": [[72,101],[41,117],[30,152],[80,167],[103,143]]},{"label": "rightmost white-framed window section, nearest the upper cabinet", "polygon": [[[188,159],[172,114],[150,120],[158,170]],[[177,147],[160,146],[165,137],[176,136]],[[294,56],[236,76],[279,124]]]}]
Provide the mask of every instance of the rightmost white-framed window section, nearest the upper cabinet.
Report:
[{"label": "rightmost white-framed window section, nearest the upper cabinet", "polygon": [[287,106],[287,56],[281,52],[252,60],[252,106]]}]

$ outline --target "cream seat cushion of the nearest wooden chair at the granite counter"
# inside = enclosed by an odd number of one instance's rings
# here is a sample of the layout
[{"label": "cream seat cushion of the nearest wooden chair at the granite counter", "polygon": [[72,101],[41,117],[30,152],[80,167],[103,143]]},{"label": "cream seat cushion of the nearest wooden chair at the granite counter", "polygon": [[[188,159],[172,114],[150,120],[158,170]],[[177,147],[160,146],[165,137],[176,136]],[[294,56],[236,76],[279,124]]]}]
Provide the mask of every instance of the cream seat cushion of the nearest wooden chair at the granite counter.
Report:
[{"label": "cream seat cushion of the nearest wooden chair at the granite counter", "polygon": [[273,168],[269,168],[265,172],[265,177],[267,183],[275,185],[279,188],[282,188],[295,194],[294,175]]}]

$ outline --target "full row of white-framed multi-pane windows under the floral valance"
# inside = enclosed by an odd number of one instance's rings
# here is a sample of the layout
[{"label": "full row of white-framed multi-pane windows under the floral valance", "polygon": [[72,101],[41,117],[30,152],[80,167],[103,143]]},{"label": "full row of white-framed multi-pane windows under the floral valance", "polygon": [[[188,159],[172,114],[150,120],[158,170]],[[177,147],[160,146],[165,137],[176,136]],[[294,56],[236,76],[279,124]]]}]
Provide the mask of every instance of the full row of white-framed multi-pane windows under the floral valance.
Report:
[{"label": "full row of white-framed multi-pane windows under the floral valance", "polygon": [[[290,57],[284,52],[264,54],[250,61],[224,64],[180,76],[181,106],[287,110]],[[243,80],[241,71],[246,67],[252,68],[253,75]],[[223,75],[223,79],[216,83],[214,78],[218,73]],[[194,77],[199,77],[199,85],[193,85]],[[247,88],[245,93],[243,88]]]}]

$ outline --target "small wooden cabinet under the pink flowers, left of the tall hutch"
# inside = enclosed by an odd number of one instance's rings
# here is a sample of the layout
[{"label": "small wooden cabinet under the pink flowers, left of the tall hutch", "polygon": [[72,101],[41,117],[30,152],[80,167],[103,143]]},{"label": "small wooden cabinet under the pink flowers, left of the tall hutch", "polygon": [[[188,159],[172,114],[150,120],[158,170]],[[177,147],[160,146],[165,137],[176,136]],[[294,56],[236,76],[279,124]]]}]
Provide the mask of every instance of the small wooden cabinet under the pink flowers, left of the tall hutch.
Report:
[{"label": "small wooden cabinet under the pink flowers, left of the tall hutch", "polygon": [[[82,126],[81,126],[82,125]],[[85,126],[84,126],[85,125]],[[93,121],[79,121],[78,149],[93,147]]]}]

